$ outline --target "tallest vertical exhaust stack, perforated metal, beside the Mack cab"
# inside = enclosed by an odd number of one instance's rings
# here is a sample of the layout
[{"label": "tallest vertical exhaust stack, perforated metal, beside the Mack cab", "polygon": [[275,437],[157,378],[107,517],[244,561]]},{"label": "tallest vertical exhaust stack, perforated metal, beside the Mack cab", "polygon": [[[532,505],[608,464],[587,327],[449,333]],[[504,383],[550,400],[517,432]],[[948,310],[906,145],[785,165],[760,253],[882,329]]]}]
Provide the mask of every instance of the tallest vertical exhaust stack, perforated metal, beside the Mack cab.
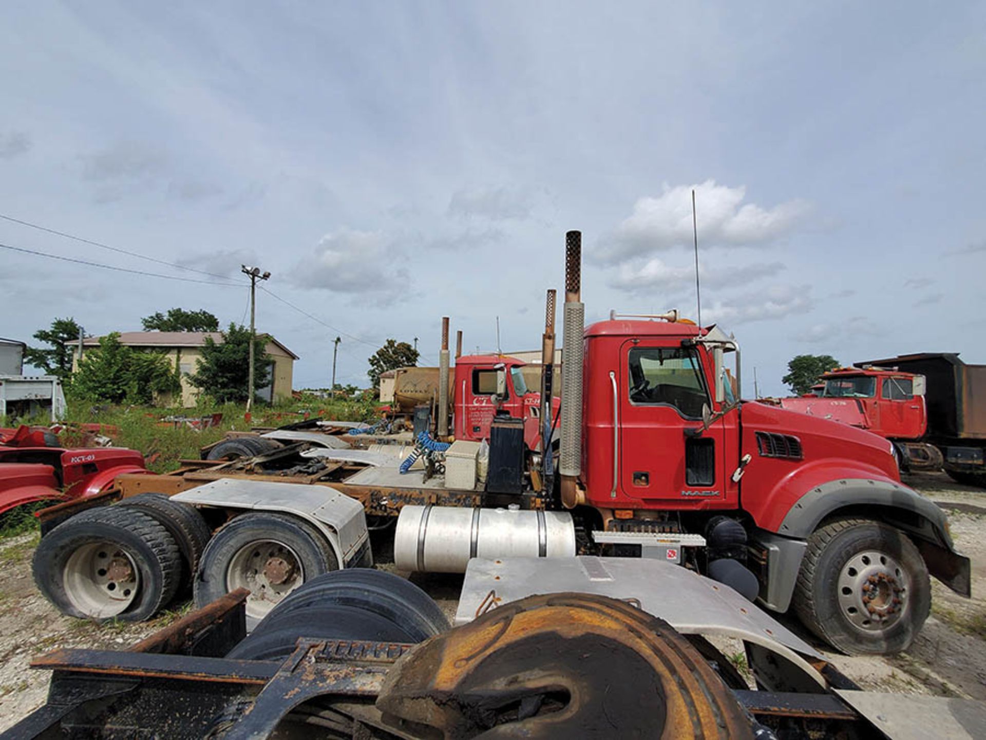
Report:
[{"label": "tallest vertical exhaust stack, perforated metal, beside the Mack cab", "polygon": [[561,365],[561,501],[566,508],[581,503],[582,355],[586,307],[582,303],[582,232],[565,235],[564,344]]}]

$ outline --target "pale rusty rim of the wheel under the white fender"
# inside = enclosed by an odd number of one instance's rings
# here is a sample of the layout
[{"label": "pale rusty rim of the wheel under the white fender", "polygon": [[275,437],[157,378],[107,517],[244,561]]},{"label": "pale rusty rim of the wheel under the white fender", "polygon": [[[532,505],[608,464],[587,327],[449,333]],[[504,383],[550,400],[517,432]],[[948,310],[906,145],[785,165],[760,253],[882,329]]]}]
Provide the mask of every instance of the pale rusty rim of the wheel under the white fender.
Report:
[{"label": "pale rusty rim of the wheel under the white fender", "polygon": [[305,582],[301,558],[284,543],[256,540],[230,559],[226,584],[230,591],[249,589],[246,616],[262,620],[284,597]]}]

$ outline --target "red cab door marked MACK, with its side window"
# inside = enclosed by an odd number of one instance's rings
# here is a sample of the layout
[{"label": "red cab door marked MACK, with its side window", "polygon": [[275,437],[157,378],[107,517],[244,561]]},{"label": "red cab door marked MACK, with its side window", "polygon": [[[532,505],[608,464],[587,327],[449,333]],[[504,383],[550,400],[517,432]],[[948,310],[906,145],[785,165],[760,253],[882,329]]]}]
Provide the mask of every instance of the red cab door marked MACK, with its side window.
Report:
[{"label": "red cab door marked MACK, with its side window", "polygon": [[701,428],[705,405],[714,407],[705,352],[647,339],[622,345],[616,395],[623,495],[655,508],[737,504],[736,486],[728,479],[726,420],[717,419],[701,434],[685,433]]}]

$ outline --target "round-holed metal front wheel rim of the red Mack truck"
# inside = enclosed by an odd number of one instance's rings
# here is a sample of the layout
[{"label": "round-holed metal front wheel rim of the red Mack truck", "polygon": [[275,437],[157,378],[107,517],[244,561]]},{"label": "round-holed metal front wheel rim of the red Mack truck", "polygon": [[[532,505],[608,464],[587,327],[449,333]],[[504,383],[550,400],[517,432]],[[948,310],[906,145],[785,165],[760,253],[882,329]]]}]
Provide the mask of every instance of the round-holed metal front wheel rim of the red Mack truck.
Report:
[{"label": "round-holed metal front wheel rim of the red Mack truck", "polygon": [[850,557],[839,571],[839,609],[856,629],[889,629],[907,612],[910,586],[910,573],[895,557],[865,550]]}]

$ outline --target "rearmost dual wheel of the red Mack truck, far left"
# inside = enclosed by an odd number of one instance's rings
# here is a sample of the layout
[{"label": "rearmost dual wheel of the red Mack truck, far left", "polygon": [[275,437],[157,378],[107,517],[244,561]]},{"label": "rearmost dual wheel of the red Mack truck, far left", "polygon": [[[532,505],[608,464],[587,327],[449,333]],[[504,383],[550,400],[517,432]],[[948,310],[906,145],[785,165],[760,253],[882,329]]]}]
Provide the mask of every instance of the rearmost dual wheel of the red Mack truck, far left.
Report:
[{"label": "rearmost dual wheel of the red Mack truck, far left", "polygon": [[175,596],[181,555],[168,530],[144,512],[101,506],[45,535],[32,569],[37,589],[63,614],[140,622]]}]

